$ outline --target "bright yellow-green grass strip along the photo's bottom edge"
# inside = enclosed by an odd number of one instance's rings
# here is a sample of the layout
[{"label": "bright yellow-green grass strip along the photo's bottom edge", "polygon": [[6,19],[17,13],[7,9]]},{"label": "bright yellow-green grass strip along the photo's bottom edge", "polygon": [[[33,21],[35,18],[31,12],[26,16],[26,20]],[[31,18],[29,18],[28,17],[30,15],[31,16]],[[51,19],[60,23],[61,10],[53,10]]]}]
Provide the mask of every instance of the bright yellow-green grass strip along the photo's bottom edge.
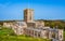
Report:
[{"label": "bright yellow-green grass strip along the photo's bottom edge", "polygon": [[49,41],[47,39],[40,38],[27,38],[27,37],[20,37],[20,36],[3,36],[0,37],[0,41]]}]

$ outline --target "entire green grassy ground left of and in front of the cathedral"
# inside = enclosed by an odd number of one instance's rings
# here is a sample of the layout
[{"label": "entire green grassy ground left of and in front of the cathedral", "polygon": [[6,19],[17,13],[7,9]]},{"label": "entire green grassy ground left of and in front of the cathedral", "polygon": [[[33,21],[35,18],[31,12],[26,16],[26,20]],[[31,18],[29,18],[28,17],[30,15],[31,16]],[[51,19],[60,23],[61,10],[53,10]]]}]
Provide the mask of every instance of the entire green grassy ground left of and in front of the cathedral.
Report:
[{"label": "entire green grassy ground left of and in front of the cathedral", "polygon": [[11,28],[0,28],[0,41],[50,41],[49,39],[16,36]]}]

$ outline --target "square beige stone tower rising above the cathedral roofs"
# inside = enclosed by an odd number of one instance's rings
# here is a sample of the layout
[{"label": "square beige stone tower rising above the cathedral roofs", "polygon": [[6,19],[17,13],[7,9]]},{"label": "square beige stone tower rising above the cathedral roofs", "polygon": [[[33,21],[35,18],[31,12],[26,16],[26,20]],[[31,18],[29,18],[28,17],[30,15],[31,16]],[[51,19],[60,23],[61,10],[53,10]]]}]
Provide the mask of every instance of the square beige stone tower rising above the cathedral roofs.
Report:
[{"label": "square beige stone tower rising above the cathedral roofs", "polygon": [[31,9],[24,10],[24,22],[26,22],[26,23],[34,22],[34,10],[31,10]]}]

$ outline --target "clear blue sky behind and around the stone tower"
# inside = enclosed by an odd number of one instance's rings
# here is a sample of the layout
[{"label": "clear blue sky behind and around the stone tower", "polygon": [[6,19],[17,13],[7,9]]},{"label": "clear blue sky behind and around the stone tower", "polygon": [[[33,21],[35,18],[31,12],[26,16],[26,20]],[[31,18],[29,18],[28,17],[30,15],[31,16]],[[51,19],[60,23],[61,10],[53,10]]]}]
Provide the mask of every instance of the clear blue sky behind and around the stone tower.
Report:
[{"label": "clear blue sky behind and around the stone tower", "polygon": [[65,19],[65,0],[0,0],[0,20],[24,19],[25,9],[35,19]]}]

